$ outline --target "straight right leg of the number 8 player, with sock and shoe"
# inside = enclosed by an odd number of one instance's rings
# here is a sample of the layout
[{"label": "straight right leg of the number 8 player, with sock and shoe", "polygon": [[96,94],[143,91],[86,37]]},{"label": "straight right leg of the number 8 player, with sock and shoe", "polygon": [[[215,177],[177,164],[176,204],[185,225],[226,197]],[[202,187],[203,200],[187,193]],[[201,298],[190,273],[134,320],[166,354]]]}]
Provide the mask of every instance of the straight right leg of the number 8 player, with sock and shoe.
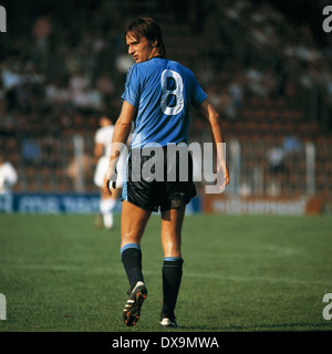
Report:
[{"label": "straight right leg of the number 8 player, with sock and shoe", "polygon": [[176,326],[175,305],[183,275],[181,229],[186,206],[162,211],[163,263],[163,308],[160,323]]}]

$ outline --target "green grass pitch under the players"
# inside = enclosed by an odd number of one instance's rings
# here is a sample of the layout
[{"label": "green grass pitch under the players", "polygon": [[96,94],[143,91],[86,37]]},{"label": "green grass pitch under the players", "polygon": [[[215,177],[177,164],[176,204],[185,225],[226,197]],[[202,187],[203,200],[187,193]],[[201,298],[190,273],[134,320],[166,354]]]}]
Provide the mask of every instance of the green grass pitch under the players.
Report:
[{"label": "green grass pitch under the players", "polygon": [[[120,216],[112,231],[94,216],[0,215],[0,332],[159,332],[159,216],[142,249],[148,298],[126,327],[127,279]],[[332,218],[187,216],[176,315],[181,332],[331,331]]]}]

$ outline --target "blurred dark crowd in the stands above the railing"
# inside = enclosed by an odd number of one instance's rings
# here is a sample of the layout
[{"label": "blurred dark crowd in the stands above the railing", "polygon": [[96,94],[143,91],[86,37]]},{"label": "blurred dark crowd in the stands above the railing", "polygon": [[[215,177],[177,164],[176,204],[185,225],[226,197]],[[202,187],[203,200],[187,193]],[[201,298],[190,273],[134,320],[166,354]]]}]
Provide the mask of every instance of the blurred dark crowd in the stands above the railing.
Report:
[{"label": "blurred dark crowd in the stands above the railing", "polygon": [[102,112],[116,118],[133,64],[124,23],[146,13],[164,24],[168,56],[189,65],[229,122],[251,98],[282,98],[331,132],[331,37],[318,39],[264,1],[35,1],[29,9],[29,20],[17,12],[12,33],[8,20],[0,53],[0,148],[13,137],[20,159],[38,159],[33,138],[92,136]]}]

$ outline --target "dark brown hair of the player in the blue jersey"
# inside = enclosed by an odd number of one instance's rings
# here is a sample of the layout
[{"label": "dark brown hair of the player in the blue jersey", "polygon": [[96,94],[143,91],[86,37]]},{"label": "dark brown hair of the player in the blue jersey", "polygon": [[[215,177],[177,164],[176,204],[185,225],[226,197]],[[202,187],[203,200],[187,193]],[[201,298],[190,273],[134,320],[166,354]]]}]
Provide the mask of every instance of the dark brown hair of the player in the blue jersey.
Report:
[{"label": "dark brown hair of the player in the blue jersey", "polygon": [[128,32],[133,33],[137,40],[145,37],[149,42],[157,41],[159,54],[162,56],[166,55],[162,29],[156,20],[152,18],[138,18],[127,25],[125,38]]}]

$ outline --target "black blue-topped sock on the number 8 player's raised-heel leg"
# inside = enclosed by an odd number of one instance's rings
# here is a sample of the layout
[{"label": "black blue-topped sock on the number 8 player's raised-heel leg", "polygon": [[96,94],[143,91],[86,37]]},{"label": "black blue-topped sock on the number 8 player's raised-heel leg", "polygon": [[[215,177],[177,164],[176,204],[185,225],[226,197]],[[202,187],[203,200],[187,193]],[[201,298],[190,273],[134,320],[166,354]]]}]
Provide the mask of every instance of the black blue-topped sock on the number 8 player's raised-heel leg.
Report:
[{"label": "black blue-topped sock on the number 8 player's raised-heel leg", "polygon": [[121,249],[121,258],[131,284],[131,290],[133,290],[138,281],[144,282],[141,247],[137,243],[123,246]]}]

